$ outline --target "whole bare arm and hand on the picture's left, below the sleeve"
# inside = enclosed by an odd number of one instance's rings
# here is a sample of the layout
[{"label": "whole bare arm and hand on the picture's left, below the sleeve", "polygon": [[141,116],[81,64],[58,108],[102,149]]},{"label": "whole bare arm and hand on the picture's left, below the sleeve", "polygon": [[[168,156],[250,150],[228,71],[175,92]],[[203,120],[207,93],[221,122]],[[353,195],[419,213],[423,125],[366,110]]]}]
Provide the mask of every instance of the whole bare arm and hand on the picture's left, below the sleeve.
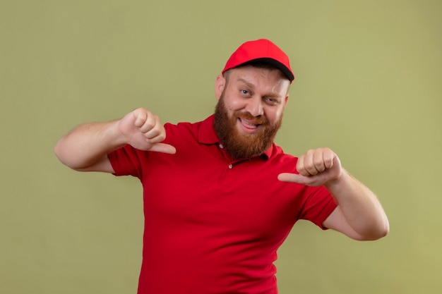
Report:
[{"label": "whole bare arm and hand on the picture's left, below the sleeve", "polygon": [[59,160],[76,171],[114,173],[107,154],[126,144],[141,150],[174,154],[175,147],[162,143],[166,131],[158,116],[136,109],[117,121],[84,123],[56,143]]}]

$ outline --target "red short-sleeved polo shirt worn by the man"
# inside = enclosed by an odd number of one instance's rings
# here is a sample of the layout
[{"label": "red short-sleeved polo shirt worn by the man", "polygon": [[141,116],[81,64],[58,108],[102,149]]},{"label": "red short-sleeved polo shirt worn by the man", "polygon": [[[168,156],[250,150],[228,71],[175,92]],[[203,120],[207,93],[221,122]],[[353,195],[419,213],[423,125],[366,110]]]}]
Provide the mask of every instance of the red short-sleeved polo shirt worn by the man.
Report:
[{"label": "red short-sleeved polo shirt worn by the man", "polygon": [[176,154],[129,145],[109,154],[117,176],[143,184],[138,294],[277,293],[277,248],[298,219],[322,227],[336,207],[330,192],[277,180],[297,158],[276,145],[232,161],[213,116],[165,128]]}]

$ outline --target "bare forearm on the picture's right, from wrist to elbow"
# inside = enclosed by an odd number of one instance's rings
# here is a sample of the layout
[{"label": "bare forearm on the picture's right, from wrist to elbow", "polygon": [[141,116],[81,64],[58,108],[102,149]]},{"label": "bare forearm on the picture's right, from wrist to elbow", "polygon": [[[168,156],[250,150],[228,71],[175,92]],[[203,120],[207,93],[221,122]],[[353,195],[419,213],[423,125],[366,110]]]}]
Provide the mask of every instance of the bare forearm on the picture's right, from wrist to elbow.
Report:
[{"label": "bare forearm on the picture's right, from wrist to elbow", "polygon": [[363,240],[376,240],[389,231],[387,216],[374,192],[343,170],[325,184],[337,200],[343,216]]}]

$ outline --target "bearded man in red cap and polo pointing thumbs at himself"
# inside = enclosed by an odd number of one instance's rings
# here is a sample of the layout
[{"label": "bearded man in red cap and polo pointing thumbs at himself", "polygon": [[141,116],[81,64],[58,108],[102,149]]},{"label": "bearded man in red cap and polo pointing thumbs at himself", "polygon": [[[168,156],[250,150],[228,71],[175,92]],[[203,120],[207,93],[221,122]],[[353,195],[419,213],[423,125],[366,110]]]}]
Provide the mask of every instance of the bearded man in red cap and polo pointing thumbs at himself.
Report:
[{"label": "bearded man in red cap and polo pointing thumbs at himself", "polygon": [[143,184],[145,232],[138,293],[277,293],[277,248],[298,219],[355,240],[388,233],[376,196],[328,148],[299,158],[273,143],[294,80],[267,39],[246,42],[215,81],[215,114],[162,125],[136,109],[87,123],[55,147],[78,171]]}]

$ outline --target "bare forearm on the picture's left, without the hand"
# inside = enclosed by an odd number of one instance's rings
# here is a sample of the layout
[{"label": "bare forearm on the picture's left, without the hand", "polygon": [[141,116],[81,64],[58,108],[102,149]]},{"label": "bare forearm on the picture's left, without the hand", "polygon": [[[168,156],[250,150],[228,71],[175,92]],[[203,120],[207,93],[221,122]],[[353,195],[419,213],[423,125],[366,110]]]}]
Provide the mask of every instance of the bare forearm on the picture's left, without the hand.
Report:
[{"label": "bare forearm on the picture's left, without the hand", "polygon": [[95,164],[107,153],[125,144],[117,122],[79,125],[56,143],[56,157],[71,169],[85,169]]}]

